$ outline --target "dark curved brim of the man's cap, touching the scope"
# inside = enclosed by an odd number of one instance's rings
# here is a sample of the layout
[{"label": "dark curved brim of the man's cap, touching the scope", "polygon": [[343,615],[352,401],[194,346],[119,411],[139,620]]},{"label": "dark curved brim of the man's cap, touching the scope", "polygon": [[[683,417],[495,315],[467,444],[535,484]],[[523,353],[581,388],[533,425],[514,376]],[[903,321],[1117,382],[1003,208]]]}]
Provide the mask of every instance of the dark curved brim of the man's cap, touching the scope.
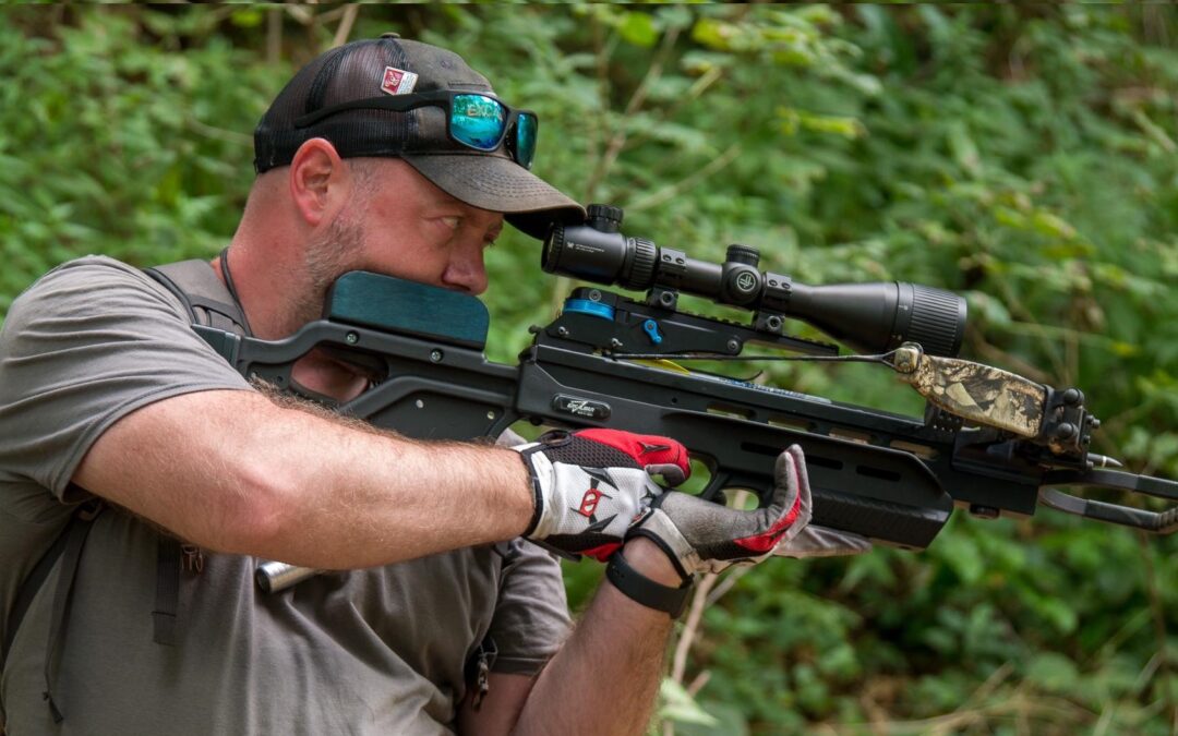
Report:
[{"label": "dark curved brim of the man's cap, touching the scope", "polygon": [[544,239],[554,221],[584,221],[584,207],[508,158],[463,153],[401,157],[439,190],[472,207],[502,212],[507,221]]}]

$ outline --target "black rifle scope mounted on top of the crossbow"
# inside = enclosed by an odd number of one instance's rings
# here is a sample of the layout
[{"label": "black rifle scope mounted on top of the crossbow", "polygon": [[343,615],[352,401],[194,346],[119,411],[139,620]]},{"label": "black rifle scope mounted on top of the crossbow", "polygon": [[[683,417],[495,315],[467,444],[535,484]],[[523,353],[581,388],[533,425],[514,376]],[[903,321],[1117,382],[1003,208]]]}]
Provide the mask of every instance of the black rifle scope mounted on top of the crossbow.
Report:
[{"label": "black rifle scope mounted on top of the crossbow", "polygon": [[966,304],[952,292],[902,281],[807,286],[760,271],[761,254],[753,247],[730,245],[724,263],[708,263],[623,236],[618,207],[589,205],[588,216],[584,225],[552,227],[544,240],[544,271],[636,291],[682,291],[802,319],[865,352],[907,342],[934,356],[954,357],[961,350]]}]

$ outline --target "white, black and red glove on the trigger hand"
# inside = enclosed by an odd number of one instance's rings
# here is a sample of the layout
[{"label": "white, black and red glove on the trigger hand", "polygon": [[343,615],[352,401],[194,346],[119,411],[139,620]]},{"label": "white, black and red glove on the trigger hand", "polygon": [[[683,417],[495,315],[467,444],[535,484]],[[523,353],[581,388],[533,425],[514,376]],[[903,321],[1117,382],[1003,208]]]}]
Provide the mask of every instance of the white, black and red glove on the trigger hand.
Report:
[{"label": "white, black and red glove on the trigger hand", "polygon": [[640,511],[691,473],[687,449],[666,437],[591,429],[548,432],[512,447],[531,473],[536,511],[524,536],[604,562]]}]

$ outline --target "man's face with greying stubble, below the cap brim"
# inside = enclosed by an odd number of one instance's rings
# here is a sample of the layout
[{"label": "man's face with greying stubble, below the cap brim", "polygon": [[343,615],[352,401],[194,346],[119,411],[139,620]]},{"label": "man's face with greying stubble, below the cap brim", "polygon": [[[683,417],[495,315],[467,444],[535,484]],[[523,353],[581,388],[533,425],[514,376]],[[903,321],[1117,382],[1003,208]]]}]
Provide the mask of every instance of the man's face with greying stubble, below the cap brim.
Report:
[{"label": "man's face with greying stubble, below the cap brim", "polygon": [[357,195],[326,236],[350,243],[323,243],[327,250],[343,246],[342,263],[312,271],[335,271],[333,279],[365,270],[472,294],[487,290],[483,252],[503,230],[501,213],[458,201],[398,159],[349,164]]}]

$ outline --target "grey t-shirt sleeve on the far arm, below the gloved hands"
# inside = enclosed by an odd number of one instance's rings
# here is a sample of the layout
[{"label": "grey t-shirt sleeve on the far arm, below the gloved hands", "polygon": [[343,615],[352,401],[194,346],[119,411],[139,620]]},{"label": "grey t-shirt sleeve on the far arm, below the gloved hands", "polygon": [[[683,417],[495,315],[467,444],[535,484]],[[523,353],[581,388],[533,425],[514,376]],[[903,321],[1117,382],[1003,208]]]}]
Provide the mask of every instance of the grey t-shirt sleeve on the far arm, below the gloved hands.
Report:
[{"label": "grey t-shirt sleeve on the far arm, below the gloved hands", "polygon": [[569,636],[571,621],[561,565],[521,538],[509,546],[490,636],[498,654],[491,670],[535,675]]}]

